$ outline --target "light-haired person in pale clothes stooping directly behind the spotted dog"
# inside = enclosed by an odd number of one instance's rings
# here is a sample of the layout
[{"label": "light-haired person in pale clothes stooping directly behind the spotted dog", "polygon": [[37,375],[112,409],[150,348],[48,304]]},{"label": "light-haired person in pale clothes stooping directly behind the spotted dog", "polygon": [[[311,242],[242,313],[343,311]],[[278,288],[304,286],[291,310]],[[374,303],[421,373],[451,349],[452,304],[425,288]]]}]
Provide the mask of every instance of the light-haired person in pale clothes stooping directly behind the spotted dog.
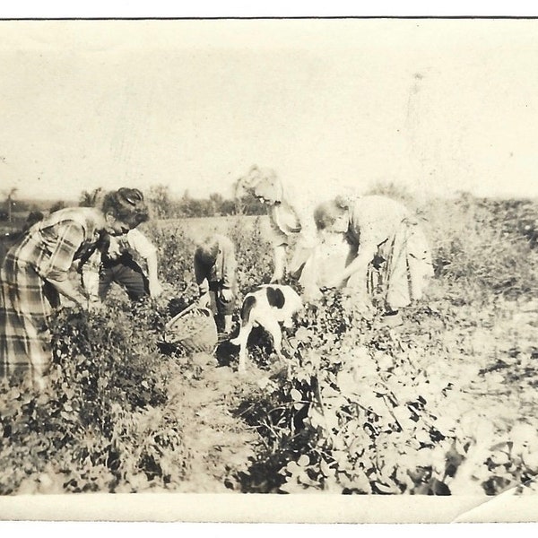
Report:
[{"label": "light-haired person in pale clothes stooping directly behind the spotted dog", "polygon": [[284,186],[273,169],[252,167],[239,180],[239,187],[267,206],[273,244],[271,282],[282,282],[288,273],[291,278],[299,280],[308,295],[313,285],[308,260],[317,243],[314,204],[310,204],[306,196],[299,195],[292,187]]}]

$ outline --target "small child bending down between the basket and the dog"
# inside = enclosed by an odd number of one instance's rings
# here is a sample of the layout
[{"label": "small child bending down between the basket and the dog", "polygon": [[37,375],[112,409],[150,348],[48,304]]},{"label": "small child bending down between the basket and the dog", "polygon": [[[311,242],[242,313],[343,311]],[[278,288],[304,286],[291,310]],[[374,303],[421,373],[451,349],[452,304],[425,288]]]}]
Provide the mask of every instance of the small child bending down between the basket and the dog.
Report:
[{"label": "small child bending down between the basket and the dog", "polygon": [[233,243],[215,234],[201,241],[195,250],[195,279],[200,293],[198,305],[211,308],[218,329],[231,332],[237,296],[237,262]]}]

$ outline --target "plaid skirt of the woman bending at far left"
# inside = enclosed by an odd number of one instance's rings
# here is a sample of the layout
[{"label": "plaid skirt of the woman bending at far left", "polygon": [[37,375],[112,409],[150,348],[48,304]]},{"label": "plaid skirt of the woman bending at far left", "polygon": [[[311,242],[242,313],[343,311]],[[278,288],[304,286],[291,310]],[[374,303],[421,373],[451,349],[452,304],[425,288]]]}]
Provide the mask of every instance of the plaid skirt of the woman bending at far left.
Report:
[{"label": "plaid skirt of the woman bending at far left", "polygon": [[0,376],[39,379],[52,361],[49,321],[59,296],[15,253],[0,270]]}]

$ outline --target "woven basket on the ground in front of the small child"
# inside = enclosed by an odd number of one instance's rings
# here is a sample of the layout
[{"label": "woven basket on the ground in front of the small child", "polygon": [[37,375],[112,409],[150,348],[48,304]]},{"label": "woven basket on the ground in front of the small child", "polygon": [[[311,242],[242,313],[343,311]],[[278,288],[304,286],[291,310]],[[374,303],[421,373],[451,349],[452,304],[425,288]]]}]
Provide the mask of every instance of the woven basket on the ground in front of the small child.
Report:
[{"label": "woven basket on the ground in front of the small child", "polygon": [[195,304],[185,308],[166,324],[164,342],[187,353],[213,352],[217,345],[217,326],[212,311]]}]

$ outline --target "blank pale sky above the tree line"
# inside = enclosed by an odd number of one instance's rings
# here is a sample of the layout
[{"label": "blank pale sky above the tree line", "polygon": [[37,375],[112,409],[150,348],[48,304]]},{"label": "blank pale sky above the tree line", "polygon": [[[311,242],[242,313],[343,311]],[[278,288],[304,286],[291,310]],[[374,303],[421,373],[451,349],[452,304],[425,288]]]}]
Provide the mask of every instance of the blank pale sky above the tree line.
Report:
[{"label": "blank pale sky above the tree line", "polygon": [[537,66],[538,21],[0,22],[0,195],[537,196]]}]

